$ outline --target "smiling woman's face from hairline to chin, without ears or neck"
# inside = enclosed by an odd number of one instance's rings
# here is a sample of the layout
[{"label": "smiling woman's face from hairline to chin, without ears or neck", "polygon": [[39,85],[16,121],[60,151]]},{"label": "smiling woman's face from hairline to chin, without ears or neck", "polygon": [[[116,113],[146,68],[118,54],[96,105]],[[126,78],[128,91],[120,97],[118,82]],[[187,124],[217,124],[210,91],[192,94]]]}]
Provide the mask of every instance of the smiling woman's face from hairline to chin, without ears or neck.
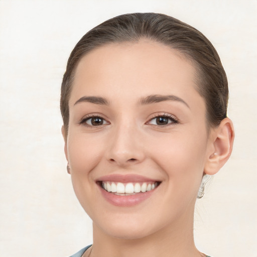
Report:
[{"label": "smiling woman's face from hairline to chin, without ears or neck", "polygon": [[211,154],[195,83],[190,62],[156,42],[106,45],[81,59],[65,153],[94,229],[141,238],[192,222]]}]

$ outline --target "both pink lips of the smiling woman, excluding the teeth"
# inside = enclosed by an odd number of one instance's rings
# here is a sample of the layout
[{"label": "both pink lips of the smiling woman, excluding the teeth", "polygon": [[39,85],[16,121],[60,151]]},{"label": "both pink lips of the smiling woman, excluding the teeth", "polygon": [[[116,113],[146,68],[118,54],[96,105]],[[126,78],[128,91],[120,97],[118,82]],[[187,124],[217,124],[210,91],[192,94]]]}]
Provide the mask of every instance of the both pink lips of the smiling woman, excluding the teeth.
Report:
[{"label": "both pink lips of the smiling woman, excluding the teeth", "polygon": [[120,175],[120,174],[111,174],[106,175],[98,178],[96,182],[98,182],[99,189],[101,191],[101,194],[105,200],[107,200],[110,204],[120,207],[130,207],[137,204],[140,204],[144,200],[151,197],[151,195],[156,191],[157,188],[145,192],[145,193],[137,193],[134,195],[115,195],[114,193],[110,193],[105,191],[101,187],[100,181],[112,181],[112,182],[121,182],[121,183],[136,183],[136,182],[156,182],[158,180],[154,180],[151,178],[147,178],[144,176],[136,175],[136,174],[126,174],[126,175]]}]

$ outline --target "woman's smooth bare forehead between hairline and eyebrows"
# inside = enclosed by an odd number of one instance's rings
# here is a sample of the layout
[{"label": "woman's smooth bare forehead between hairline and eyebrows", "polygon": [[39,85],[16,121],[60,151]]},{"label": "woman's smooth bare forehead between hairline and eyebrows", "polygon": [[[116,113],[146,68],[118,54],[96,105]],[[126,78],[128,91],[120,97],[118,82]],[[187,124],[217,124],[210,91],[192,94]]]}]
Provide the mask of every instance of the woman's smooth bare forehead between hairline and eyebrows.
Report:
[{"label": "woman's smooth bare forehead between hairline and eyebrows", "polygon": [[188,59],[161,43],[142,40],[109,44],[80,60],[70,100],[75,102],[83,94],[137,98],[172,93],[187,98],[197,93],[195,73]]}]

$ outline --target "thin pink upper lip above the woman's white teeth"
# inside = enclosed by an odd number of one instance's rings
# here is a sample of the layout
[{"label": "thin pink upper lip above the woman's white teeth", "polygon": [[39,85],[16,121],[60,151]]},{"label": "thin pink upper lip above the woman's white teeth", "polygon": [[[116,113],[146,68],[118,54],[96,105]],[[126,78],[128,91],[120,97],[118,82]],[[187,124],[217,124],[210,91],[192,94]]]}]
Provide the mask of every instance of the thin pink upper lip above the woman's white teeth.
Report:
[{"label": "thin pink upper lip above the woman's white teeth", "polygon": [[137,174],[110,174],[97,178],[96,181],[111,181],[121,183],[156,182],[160,180],[148,178]]}]

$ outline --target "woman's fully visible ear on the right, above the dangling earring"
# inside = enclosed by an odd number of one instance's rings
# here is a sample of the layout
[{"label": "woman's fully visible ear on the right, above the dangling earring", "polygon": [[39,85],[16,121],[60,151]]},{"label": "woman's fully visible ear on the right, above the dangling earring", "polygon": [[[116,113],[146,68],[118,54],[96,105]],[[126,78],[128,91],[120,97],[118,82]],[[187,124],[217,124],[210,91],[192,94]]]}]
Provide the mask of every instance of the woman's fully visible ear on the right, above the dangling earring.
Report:
[{"label": "woman's fully visible ear on the right, above the dangling earring", "polygon": [[210,147],[204,166],[204,173],[216,174],[231,155],[234,142],[234,127],[229,118],[224,118],[220,124],[210,132]]}]

